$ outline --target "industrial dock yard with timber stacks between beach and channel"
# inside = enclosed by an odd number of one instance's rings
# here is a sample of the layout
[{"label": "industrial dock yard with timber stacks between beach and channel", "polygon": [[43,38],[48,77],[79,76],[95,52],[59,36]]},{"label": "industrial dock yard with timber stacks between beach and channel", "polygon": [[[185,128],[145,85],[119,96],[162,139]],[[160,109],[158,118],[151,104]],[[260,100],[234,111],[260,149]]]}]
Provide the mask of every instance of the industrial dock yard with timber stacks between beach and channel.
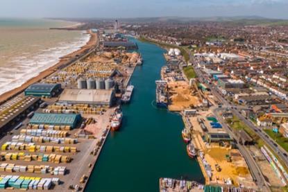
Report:
[{"label": "industrial dock yard with timber stacks between beach and channel", "polygon": [[6,131],[0,189],[85,188],[115,107],[142,64],[136,52],[109,49],[99,47],[0,106],[0,128]]}]

